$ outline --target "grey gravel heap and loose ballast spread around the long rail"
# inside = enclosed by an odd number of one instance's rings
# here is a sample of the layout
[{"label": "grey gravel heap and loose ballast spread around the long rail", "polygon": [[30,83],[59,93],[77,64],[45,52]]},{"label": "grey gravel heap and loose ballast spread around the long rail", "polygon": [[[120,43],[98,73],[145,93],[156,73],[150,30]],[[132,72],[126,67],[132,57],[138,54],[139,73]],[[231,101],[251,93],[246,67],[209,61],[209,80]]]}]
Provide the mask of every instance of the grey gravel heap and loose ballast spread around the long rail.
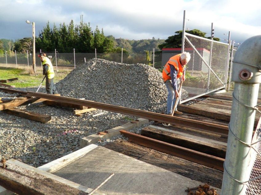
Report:
[{"label": "grey gravel heap and loose ballast spread around the long rail", "polygon": [[[46,93],[44,84],[38,92]],[[58,92],[66,97],[85,98],[156,113],[166,110],[167,88],[161,78],[161,72],[145,64],[121,64],[91,59],[57,82],[56,87]],[[36,91],[37,88],[38,86],[14,89]],[[0,93],[0,97],[6,98],[15,98],[15,95],[17,94]],[[52,120],[45,124],[0,112],[0,159],[14,158],[34,167],[42,166],[80,149],[82,137],[135,119],[132,116],[98,109],[77,117],[73,114],[74,109],[39,107],[41,104],[18,108],[50,115]],[[92,117],[102,112],[103,114]],[[139,133],[140,130],[141,128],[135,128],[133,132]],[[104,143],[113,139],[116,138],[105,140]]]}]

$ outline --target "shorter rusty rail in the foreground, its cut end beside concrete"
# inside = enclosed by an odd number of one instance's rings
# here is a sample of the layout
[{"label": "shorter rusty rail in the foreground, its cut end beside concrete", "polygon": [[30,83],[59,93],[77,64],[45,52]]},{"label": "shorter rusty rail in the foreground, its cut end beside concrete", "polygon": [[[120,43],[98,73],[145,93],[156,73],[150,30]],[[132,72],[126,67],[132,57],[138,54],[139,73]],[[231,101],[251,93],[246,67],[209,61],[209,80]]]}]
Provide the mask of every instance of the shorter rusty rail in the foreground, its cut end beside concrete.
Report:
[{"label": "shorter rusty rail in the foreground, its cut end beside concrete", "polygon": [[224,171],[223,163],[225,159],[208,155],[202,152],[191,150],[185,147],[180,147],[171,143],[152,139],[150,137],[141,136],[128,131],[120,130],[120,133],[129,138],[129,142],[135,143],[147,148],[151,148],[166,154],[177,156],[182,159],[196,162],[198,164],[211,167],[213,169]]}]

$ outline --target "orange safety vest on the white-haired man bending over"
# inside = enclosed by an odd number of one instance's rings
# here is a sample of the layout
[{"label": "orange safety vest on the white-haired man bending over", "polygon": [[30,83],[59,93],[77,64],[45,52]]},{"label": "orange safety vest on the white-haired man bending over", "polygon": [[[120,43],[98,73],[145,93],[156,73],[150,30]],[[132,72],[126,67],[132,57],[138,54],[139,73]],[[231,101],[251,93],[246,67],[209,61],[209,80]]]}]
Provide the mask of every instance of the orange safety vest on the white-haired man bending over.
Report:
[{"label": "orange safety vest on the white-haired man bending over", "polygon": [[179,62],[180,55],[181,54],[172,56],[169,59],[169,61],[166,63],[166,65],[164,66],[163,71],[162,71],[162,78],[163,78],[164,82],[171,79],[171,77],[170,77],[170,73],[171,73],[170,64],[172,66],[174,66],[175,69],[177,70],[177,72],[178,72],[177,78],[180,78],[183,75],[183,70],[184,70],[186,65],[182,66],[181,63]]}]

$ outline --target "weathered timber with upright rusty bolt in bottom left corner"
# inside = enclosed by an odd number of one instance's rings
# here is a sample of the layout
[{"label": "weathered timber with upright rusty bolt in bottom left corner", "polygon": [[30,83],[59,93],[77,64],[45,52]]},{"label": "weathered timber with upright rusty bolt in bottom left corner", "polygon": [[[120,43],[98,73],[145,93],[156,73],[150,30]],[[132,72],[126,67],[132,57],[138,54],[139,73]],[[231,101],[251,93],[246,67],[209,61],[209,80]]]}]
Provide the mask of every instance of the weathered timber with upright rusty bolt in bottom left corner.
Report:
[{"label": "weathered timber with upright rusty bolt in bottom left corner", "polygon": [[79,189],[75,189],[69,185],[58,182],[52,178],[38,174],[32,170],[27,170],[8,162],[6,162],[6,164],[8,165],[6,169],[0,168],[0,183],[4,188],[17,194],[88,194]]}]

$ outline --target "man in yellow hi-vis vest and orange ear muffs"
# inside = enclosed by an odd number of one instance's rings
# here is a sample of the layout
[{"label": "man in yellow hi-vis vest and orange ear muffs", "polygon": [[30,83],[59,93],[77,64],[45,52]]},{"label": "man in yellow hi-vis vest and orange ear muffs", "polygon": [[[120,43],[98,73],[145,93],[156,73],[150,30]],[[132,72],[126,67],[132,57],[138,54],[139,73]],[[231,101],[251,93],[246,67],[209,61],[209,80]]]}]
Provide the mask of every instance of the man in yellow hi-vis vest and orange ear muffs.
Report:
[{"label": "man in yellow hi-vis vest and orange ear muffs", "polygon": [[45,75],[46,83],[45,88],[47,94],[58,94],[56,87],[54,85],[54,68],[51,60],[46,57],[45,53],[41,52],[38,57],[42,61],[42,74]]}]

